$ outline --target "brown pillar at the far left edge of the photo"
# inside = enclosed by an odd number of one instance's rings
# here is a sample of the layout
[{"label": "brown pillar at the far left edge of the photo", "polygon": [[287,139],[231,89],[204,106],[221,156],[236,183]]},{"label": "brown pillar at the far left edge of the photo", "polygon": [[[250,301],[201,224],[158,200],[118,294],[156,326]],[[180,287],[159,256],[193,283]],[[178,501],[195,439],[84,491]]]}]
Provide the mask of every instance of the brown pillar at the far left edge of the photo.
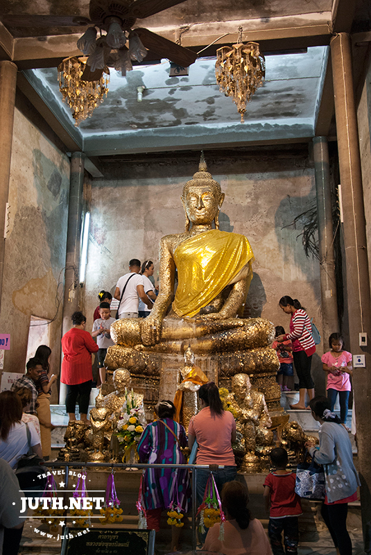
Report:
[{"label": "brown pillar at the far left edge of the photo", "polygon": [[7,60],[0,62],[0,307],[5,254],[3,230],[9,194],[16,83],[17,66]]}]

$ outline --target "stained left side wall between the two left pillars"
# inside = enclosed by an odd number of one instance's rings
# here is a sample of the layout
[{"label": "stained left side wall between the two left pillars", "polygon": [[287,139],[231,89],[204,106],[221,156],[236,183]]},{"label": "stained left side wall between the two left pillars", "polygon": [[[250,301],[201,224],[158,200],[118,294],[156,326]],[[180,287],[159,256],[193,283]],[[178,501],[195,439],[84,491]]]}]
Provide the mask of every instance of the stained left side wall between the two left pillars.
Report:
[{"label": "stained left side wall between the two left pillars", "polygon": [[63,298],[68,197],[69,158],[16,109],[0,315],[1,332],[10,333],[11,341],[6,372],[24,372],[35,316],[53,320],[45,334],[41,329],[37,334],[49,337],[51,365],[59,373],[62,305],[57,298]]}]

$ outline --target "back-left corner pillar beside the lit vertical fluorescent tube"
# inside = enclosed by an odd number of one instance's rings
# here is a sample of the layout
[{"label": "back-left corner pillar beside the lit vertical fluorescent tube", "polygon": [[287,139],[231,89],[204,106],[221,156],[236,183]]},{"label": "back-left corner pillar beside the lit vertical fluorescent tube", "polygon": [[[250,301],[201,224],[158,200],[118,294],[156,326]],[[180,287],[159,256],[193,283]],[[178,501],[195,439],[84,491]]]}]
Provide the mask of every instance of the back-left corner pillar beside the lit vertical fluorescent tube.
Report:
[{"label": "back-left corner pillar beside the lit vertical fluorescent tube", "polygon": [[[79,271],[83,213],[84,157],[85,155],[81,152],[72,153],[71,156],[62,335],[70,330],[72,326],[71,316],[79,309]],[[61,383],[59,398],[60,404],[64,403],[65,397],[66,387]]]}]

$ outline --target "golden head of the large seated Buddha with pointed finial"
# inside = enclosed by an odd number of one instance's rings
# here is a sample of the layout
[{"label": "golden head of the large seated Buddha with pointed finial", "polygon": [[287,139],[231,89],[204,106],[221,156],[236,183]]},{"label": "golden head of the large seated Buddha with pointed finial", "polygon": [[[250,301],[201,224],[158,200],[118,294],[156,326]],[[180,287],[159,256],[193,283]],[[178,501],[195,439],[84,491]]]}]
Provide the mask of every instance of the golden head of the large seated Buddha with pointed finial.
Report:
[{"label": "golden head of the large seated Buddha with pointed finial", "polygon": [[186,213],[186,231],[189,230],[190,223],[193,225],[211,225],[213,221],[216,229],[218,229],[218,216],[224,196],[221,186],[207,171],[202,153],[198,172],[183,187],[181,198]]}]

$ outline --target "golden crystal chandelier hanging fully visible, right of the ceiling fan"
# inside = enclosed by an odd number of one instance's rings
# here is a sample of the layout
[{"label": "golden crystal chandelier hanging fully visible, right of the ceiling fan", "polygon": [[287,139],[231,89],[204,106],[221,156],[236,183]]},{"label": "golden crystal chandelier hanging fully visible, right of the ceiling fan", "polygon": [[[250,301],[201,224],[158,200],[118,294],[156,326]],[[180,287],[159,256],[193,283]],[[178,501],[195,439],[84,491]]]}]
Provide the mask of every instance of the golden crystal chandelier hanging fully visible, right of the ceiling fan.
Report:
[{"label": "golden crystal chandelier hanging fully visible, right of the ceiling fan", "polygon": [[266,60],[257,42],[243,44],[242,27],[239,27],[237,44],[222,46],[216,51],[215,76],[221,92],[232,96],[243,123],[246,102],[250,102],[266,76]]}]

